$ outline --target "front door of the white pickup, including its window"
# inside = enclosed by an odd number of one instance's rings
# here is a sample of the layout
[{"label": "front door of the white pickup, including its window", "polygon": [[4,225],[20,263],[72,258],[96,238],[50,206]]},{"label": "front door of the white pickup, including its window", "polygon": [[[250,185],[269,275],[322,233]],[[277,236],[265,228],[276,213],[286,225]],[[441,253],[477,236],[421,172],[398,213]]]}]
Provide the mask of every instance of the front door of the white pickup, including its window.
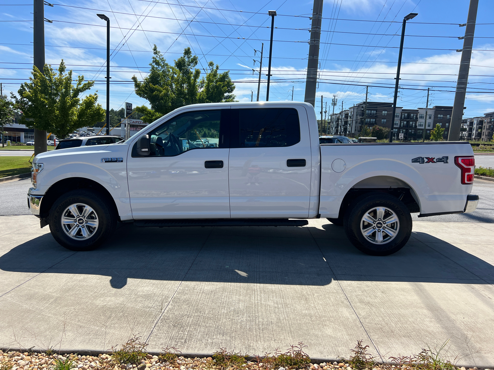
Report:
[{"label": "front door of the white pickup, including its window", "polygon": [[127,158],[135,220],[230,218],[229,148],[219,140],[228,111],[187,111],[142,130],[151,154],[137,155],[134,145]]}]

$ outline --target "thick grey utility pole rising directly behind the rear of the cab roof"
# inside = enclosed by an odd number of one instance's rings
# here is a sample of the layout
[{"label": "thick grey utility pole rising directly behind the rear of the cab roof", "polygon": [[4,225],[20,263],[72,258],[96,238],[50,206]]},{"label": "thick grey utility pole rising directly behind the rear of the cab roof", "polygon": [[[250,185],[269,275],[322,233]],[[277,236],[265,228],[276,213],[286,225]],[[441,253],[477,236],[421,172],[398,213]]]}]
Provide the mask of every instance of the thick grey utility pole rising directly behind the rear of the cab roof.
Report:
[{"label": "thick grey utility pole rising directly behind the rear of the cab roof", "polygon": [[321,23],[323,21],[323,0],[314,0],[311,19],[304,102],[316,107],[317,67],[319,63],[319,44],[321,42]]}]

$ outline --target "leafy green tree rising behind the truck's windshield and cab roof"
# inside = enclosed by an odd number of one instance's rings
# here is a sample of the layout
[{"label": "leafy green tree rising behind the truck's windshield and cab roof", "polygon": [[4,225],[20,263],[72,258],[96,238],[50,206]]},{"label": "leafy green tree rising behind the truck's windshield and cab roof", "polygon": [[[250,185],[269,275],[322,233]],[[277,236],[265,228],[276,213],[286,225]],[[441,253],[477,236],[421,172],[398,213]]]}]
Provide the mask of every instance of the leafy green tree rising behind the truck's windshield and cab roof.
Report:
[{"label": "leafy green tree rising behind the truck's windshield and cab roof", "polygon": [[190,47],[184,49],[183,56],[175,60],[173,66],[166,63],[156,45],[153,54],[150,73],[143,81],[132,77],[137,96],[147,99],[151,105],[151,108],[140,106],[135,109],[145,122],[153,122],[189,104],[235,101],[235,84],[229,71],[218,73],[219,66],[211,61],[207,64],[206,76],[200,79],[201,71],[195,68],[199,59],[192,55]]}]

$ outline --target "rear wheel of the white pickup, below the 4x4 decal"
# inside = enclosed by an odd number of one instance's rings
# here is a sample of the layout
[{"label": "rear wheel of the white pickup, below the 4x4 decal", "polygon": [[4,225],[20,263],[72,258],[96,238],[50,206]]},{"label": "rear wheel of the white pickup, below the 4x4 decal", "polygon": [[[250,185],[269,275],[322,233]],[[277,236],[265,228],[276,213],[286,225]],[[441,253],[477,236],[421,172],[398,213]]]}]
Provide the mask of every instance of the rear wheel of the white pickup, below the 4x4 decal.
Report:
[{"label": "rear wheel of the white pickup, below the 4x4 decal", "polygon": [[[382,220],[377,217],[377,212],[384,215]],[[368,214],[366,219],[376,221],[372,223],[364,221],[366,214]],[[390,222],[395,219],[397,223]],[[385,224],[384,220],[389,221]],[[412,216],[407,206],[398,198],[375,192],[357,198],[348,207],[344,228],[350,242],[361,252],[371,256],[388,256],[402,249],[410,239]],[[364,232],[368,236],[364,236]]]}]

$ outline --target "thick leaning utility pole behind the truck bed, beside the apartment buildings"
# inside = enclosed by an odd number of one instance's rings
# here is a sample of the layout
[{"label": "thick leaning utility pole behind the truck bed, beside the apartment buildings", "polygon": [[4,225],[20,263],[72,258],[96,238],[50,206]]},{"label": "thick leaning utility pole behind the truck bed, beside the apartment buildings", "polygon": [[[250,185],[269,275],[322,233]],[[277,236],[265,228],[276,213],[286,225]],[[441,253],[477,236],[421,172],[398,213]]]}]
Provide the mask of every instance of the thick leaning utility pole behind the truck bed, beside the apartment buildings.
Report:
[{"label": "thick leaning utility pole behind the truck bed, beside the apartment buildings", "polygon": [[465,104],[466,85],[468,83],[468,71],[470,70],[470,58],[472,56],[473,35],[475,33],[475,22],[477,20],[477,7],[479,0],[470,0],[468,7],[468,17],[466,24],[465,36],[463,38],[463,49],[461,51],[460,68],[458,71],[458,80],[456,82],[456,93],[454,94],[453,111],[451,112],[450,131],[448,132],[448,141],[460,139],[461,119],[463,118],[463,105]]}]

